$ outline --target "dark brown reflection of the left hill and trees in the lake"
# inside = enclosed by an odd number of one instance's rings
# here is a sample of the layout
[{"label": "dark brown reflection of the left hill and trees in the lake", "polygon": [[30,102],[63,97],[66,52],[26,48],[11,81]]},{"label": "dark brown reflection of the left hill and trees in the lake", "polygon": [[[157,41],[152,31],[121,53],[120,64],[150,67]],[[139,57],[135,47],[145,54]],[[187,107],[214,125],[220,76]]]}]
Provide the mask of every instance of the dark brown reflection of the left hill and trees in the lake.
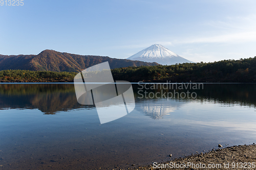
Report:
[{"label": "dark brown reflection of the left hill and trees in the lake", "polygon": [[93,108],[77,103],[73,84],[2,84],[0,109],[39,109],[55,114],[78,108]]}]

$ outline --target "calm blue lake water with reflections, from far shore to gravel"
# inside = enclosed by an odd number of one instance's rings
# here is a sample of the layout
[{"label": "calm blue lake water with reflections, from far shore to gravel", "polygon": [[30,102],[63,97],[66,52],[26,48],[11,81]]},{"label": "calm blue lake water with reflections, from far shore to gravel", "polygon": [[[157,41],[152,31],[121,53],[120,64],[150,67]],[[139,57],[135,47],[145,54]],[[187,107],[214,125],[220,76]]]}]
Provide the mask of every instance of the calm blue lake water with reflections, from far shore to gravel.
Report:
[{"label": "calm blue lake water with reflections, from far shore to gravel", "polygon": [[158,98],[174,89],[144,87],[133,84],[130,114],[100,124],[95,106],[77,103],[73,84],[0,84],[0,165],[127,168],[256,142],[256,84],[203,84],[189,89],[193,99]]}]

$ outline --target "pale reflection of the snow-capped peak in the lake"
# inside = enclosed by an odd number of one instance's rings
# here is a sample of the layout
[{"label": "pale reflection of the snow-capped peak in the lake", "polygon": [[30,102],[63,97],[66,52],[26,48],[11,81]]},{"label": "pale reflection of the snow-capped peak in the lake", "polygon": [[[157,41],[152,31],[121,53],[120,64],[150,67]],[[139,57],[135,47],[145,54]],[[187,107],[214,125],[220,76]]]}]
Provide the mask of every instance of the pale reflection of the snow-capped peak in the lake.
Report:
[{"label": "pale reflection of the snow-capped peak in the lake", "polygon": [[176,102],[175,100],[147,100],[138,102],[135,109],[145,113],[145,115],[150,116],[153,119],[160,119],[163,118],[164,115],[174,112],[183,104],[183,102]]}]

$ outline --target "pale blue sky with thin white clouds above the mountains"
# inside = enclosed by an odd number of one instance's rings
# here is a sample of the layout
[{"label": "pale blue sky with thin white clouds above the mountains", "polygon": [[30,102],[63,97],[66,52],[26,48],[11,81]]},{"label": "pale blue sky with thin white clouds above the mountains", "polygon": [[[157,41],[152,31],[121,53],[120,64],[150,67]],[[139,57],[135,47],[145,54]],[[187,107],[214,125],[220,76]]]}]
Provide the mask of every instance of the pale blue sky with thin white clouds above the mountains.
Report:
[{"label": "pale blue sky with thin white clouds above the mountains", "polygon": [[[3,2],[3,1],[2,1]],[[194,62],[256,56],[254,0],[23,0],[0,6],[0,54],[127,58],[152,44]]]}]

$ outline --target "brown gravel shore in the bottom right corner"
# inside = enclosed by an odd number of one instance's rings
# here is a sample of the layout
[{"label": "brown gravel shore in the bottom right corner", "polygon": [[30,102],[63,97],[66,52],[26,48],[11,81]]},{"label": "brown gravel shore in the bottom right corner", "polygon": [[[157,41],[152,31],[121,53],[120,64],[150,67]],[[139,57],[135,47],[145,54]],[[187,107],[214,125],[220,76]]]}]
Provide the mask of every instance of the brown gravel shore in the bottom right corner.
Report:
[{"label": "brown gravel shore in the bottom right corner", "polygon": [[129,169],[256,169],[256,145],[235,145]]}]

